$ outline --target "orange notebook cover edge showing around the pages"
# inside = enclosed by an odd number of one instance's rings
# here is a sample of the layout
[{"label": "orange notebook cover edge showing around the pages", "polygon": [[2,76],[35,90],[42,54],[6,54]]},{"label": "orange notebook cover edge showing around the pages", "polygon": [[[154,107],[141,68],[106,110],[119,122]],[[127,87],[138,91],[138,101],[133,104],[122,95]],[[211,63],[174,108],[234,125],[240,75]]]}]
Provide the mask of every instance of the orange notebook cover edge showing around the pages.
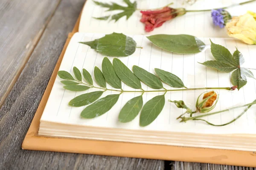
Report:
[{"label": "orange notebook cover edge showing around the pages", "polygon": [[[80,16],[81,17],[81,16]],[[88,139],[68,139],[38,136],[40,118],[52,90],[62,58],[74,33],[78,32],[80,17],[67,41],[52,73],[44,96],[22,144],[23,150],[44,150],[67,153],[86,153],[145,159],[163,159],[212,164],[256,167],[256,151],[221,150],[199,147],[178,147],[160,144],[111,142]]]}]

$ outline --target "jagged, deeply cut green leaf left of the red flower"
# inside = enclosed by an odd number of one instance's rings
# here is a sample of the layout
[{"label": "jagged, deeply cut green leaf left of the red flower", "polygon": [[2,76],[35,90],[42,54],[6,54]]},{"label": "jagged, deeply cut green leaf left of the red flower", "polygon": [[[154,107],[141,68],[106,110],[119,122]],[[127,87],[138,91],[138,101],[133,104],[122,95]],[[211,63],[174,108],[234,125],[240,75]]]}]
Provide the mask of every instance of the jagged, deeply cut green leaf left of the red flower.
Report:
[{"label": "jagged, deeply cut green leaf left of the red flower", "polygon": [[[111,3],[111,4],[108,4],[108,3],[100,3],[100,2],[97,2],[97,1],[93,1],[96,5],[98,6],[102,6],[102,7],[105,7],[105,8],[108,8],[108,11],[114,11],[114,10],[122,10],[122,12],[118,13],[118,14],[114,14],[112,15],[111,17],[111,20],[115,20],[115,22],[117,20],[119,20],[120,18],[122,18],[123,16],[126,16],[126,20],[129,19],[129,17],[131,17],[131,15],[136,11],[137,9],[137,2],[134,1],[134,3],[131,3],[130,0],[123,0],[124,3],[126,3],[127,6],[120,6],[118,5],[117,3]],[[107,20],[108,17],[110,16],[105,16],[105,17],[99,17],[99,18],[96,18],[96,19],[99,19],[99,20]]]}]

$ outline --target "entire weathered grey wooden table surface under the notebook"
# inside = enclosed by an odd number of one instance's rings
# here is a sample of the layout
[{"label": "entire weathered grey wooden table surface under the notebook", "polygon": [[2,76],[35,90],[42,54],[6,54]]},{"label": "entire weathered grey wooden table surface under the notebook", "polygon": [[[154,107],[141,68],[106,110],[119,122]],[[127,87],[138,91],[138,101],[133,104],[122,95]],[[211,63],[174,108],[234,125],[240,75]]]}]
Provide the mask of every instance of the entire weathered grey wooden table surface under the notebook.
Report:
[{"label": "entire weathered grey wooden table surface under the notebook", "polygon": [[21,143],[84,1],[0,0],[0,170],[256,170],[21,150]]}]

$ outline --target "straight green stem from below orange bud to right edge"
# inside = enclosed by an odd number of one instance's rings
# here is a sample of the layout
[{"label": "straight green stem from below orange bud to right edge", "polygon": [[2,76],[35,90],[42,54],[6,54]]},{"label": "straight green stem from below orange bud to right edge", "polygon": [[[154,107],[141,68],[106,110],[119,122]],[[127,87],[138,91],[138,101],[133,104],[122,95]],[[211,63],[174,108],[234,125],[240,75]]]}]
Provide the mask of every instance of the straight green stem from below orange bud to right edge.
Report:
[{"label": "straight green stem from below orange bud to right edge", "polygon": [[[203,115],[200,115],[200,116],[194,116],[194,117],[181,117],[181,121],[180,122],[186,122],[186,121],[189,121],[189,120],[196,120],[198,118],[201,118],[201,117],[205,117],[205,116],[210,116],[210,115],[214,115],[214,114],[218,114],[218,113],[222,113],[222,112],[225,112],[225,111],[230,111],[232,109],[236,109],[236,108],[242,108],[242,107],[245,107],[245,106],[251,106],[251,105],[255,105],[256,104],[256,101],[254,100],[254,102],[251,102],[251,103],[248,103],[248,104],[245,104],[245,105],[240,105],[240,106],[236,106],[236,107],[233,107],[233,108],[229,108],[229,109],[225,109],[225,110],[222,110],[222,111],[217,111],[217,112],[213,112],[213,113],[208,113],[208,114],[203,114]],[[249,108],[249,107],[248,107]],[[247,111],[247,110],[246,110]],[[243,112],[245,113],[245,112]],[[243,114],[241,113],[241,114]],[[242,116],[242,115],[241,115]],[[236,118],[238,119],[239,117],[241,117],[240,115]],[[199,120],[199,119],[198,119]],[[201,119],[200,119],[201,120]]]}]

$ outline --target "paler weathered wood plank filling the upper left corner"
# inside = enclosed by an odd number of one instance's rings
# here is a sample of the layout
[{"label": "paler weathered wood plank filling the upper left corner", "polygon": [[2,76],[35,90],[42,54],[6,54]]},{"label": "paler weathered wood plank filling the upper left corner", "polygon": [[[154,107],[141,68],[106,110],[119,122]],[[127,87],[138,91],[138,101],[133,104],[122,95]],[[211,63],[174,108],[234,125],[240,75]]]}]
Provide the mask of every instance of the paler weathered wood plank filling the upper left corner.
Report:
[{"label": "paler weathered wood plank filling the upper left corner", "polygon": [[60,0],[0,1],[0,107]]}]

